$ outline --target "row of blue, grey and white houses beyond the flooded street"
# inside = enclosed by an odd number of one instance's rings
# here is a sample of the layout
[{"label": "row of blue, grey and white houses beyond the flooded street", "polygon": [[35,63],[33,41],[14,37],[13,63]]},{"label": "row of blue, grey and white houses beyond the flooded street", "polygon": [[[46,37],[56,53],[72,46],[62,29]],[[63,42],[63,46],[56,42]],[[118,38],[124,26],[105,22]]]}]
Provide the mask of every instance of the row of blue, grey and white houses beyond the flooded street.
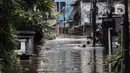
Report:
[{"label": "row of blue, grey and white houses beyond the flooded street", "polygon": [[[113,7],[120,0],[114,0]],[[59,33],[74,35],[89,35],[92,33],[92,0],[55,0],[56,10],[61,13],[57,18],[57,28]],[[106,16],[107,0],[97,2],[97,25],[102,24],[102,19]],[[65,7],[65,9],[64,9]],[[115,18],[116,31],[119,31],[120,18]],[[65,22],[64,22],[65,21]]]}]

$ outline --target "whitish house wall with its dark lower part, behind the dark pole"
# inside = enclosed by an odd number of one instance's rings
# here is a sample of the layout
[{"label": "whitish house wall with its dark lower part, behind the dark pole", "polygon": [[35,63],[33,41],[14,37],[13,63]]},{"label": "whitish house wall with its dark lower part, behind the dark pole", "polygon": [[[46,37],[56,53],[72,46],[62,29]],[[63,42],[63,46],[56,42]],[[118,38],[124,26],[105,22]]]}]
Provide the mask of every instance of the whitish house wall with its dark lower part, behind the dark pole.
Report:
[{"label": "whitish house wall with its dark lower part, behind the dark pole", "polygon": [[[92,3],[91,2],[82,2],[81,1],[81,26],[83,26],[83,35],[89,35],[92,33],[92,24],[91,24],[91,9],[92,9]],[[98,2],[98,11],[97,11],[97,18],[96,23],[102,24],[102,20],[99,19],[99,16],[102,16],[105,13],[105,2]]]}]

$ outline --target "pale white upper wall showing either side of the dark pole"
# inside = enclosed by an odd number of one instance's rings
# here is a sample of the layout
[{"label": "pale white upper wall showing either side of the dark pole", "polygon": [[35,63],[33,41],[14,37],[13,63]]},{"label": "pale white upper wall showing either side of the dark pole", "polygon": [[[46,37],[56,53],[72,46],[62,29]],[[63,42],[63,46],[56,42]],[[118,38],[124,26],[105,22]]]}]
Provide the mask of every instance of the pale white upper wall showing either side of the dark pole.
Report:
[{"label": "pale white upper wall showing either side of the dark pole", "polygon": [[[90,15],[90,9],[92,8],[92,4],[90,2],[81,2],[81,25],[84,25],[84,19],[88,18],[89,23],[89,15]],[[98,2],[98,16],[102,15],[105,12],[106,9],[106,3],[104,2]],[[101,23],[101,20],[97,19],[97,23]]]}]

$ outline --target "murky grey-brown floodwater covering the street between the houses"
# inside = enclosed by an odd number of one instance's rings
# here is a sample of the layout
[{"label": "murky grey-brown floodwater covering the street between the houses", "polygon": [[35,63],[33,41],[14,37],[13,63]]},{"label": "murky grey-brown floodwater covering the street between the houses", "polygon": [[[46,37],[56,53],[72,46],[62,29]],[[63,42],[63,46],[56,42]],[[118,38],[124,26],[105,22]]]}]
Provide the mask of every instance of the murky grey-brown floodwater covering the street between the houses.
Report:
[{"label": "murky grey-brown floodwater covering the street between the houses", "polygon": [[[102,47],[94,48],[85,38],[46,41],[30,61],[21,61],[21,73],[104,73]],[[20,72],[19,72],[20,73]]]}]

